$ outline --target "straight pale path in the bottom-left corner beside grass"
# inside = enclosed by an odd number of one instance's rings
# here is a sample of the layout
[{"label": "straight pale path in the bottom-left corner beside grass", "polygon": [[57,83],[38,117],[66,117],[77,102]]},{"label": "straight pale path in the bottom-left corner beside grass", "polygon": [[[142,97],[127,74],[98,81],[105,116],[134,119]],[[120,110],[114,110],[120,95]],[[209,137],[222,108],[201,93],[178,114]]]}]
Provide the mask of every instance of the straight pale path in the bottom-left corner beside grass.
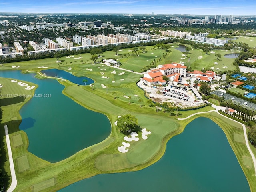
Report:
[{"label": "straight pale path in the bottom-left corner beside grass", "polygon": [[10,188],[7,190],[7,192],[12,192],[16,188],[18,182],[16,179],[16,174],[15,174],[15,169],[14,169],[14,164],[13,164],[12,149],[11,149],[7,125],[4,126],[4,131],[5,131],[6,145],[7,145],[7,150],[8,150],[10,170],[11,170],[11,176],[12,176],[12,183],[11,183]]}]

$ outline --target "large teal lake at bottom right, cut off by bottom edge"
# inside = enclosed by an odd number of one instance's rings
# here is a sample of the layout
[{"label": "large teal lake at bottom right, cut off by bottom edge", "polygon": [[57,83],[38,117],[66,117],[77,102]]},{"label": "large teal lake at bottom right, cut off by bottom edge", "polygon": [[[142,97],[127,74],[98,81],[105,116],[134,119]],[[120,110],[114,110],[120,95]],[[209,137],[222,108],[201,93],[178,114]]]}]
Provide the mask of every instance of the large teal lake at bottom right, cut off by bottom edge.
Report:
[{"label": "large teal lake at bottom right, cut off by bottom edge", "polygon": [[164,156],[137,172],[100,174],[59,192],[250,192],[222,129],[208,118],[190,122]]}]

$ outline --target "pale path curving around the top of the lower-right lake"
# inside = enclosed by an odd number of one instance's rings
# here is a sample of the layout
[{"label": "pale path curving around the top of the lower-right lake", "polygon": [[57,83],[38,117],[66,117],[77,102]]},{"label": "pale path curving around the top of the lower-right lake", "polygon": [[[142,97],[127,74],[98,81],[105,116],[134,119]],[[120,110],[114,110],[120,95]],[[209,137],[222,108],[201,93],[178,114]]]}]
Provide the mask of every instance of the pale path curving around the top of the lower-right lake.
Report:
[{"label": "pale path curving around the top of the lower-right lake", "polygon": [[[210,102],[208,102],[208,101],[206,101],[206,102],[207,102],[207,103],[210,103]],[[215,108],[216,110],[210,110],[210,111],[206,111],[206,112],[194,113],[194,114],[192,114],[192,115],[190,115],[190,116],[188,116],[188,117],[186,117],[186,118],[178,118],[178,120],[179,120],[179,121],[180,121],[180,120],[185,120],[185,119],[188,119],[188,118],[190,118],[190,117],[192,117],[192,116],[194,116],[194,115],[202,114],[202,113],[217,112],[218,114],[220,114],[219,110],[224,111],[224,110],[226,109],[226,107],[216,106],[216,105],[214,105],[214,104],[212,104],[212,107]],[[225,117],[225,118],[228,118],[228,117],[226,117],[226,116],[224,116],[224,115],[222,115],[222,114],[220,114],[220,115],[223,116],[223,117]],[[246,147],[247,147],[247,149],[248,149],[248,151],[249,151],[249,153],[250,153],[250,155],[251,155],[251,157],[252,157],[252,161],[253,161],[253,164],[254,164],[254,175],[256,176],[256,158],[255,158],[255,156],[254,156],[254,154],[253,154],[253,152],[252,152],[252,150],[251,150],[251,148],[250,148],[250,144],[249,144],[249,142],[248,142],[248,137],[247,137],[247,133],[246,133],[246,127],[245,127],[244,124],[242,124],[242,123],[240,123],[240,122],[238,122],[238,121],[236,121],[236,120],[234,120],[234,119],[231,119],[231,118],[228,118],[228,119],[229,119],[229,120],[232,120],[232,121],[234,121],[234,122],[239,123],[239,124],[242,125],[242,127],[243,127]]]}]

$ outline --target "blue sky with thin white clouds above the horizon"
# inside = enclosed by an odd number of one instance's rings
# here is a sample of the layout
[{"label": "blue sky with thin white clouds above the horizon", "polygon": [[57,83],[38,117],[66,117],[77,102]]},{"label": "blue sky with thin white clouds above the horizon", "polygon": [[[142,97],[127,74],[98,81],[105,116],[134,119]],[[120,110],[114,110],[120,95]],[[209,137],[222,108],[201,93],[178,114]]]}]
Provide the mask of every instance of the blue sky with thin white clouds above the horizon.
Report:
[{"label": "blue sky with thin white clouds above the horizon", "polygon": [[1,0],[0,12],[256,15],[256,0]]}]

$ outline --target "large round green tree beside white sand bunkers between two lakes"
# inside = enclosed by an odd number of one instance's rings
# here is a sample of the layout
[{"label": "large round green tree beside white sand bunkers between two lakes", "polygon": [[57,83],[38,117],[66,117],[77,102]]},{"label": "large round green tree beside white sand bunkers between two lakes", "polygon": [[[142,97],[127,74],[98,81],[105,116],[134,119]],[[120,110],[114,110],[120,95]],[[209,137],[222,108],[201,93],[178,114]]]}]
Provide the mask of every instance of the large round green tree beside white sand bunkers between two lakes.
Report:
[{"label": "large round green tree beside white sand bunkers between two lakes", "polygon": [[118,118],[117,128],[120,130],[121,133],[128,134],[129,132],[134,131],[136,130],[136,128],[138,128],[138,119],[131,114],[126,114]]}]

